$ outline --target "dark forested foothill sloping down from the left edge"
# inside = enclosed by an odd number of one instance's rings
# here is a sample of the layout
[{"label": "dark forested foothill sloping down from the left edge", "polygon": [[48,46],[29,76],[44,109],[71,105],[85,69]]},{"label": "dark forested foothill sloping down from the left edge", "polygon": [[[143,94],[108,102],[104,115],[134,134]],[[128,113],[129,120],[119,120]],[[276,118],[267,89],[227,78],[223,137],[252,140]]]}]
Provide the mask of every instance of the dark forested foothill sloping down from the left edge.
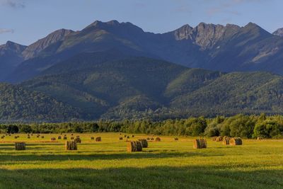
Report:
[{"label": "dark forested foothill sloping down from the left edge", "polygon": [[82,118],[79,110],[43,93],[10,84],[0,84],[0,93],[1,121],[54,122]]}]

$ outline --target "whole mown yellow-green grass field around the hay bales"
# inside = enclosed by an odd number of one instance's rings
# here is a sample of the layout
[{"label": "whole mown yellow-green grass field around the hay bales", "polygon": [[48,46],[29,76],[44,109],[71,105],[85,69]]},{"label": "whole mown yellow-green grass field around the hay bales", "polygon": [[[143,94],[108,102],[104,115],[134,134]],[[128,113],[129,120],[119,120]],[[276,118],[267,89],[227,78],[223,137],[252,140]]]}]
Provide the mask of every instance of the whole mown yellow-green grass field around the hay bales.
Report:
[{"label": "whole mown yellow-green grass field around the hay bales", "polygon": [[[0,139],[0,188],[283,188],[283,140],[224,146],[207,139],[207,149],[193,149],[191,137],[161,137],[129,153],[119,133],[74,134],[78,151],[65,151],[63,139],[50,142],[59,134],[17,135]],[[27,149],[16,151],[15,141]]]}]

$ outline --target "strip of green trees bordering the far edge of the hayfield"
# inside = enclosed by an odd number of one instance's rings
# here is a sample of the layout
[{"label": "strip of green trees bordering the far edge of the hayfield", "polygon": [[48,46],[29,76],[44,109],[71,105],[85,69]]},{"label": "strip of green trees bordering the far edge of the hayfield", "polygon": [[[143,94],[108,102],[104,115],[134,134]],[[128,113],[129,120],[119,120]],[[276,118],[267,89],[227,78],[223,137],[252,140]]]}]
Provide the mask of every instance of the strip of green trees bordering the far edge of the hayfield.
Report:
[{"label": "strip of green trees bordering the far edge of the hayfield", "polygon": [[216,118],[187,118],[163,121],[97,121],[2,124],[2,133],[127,132],[173,136],[229,136],[243,138],[282,138],[283,116],[235,115]]}]

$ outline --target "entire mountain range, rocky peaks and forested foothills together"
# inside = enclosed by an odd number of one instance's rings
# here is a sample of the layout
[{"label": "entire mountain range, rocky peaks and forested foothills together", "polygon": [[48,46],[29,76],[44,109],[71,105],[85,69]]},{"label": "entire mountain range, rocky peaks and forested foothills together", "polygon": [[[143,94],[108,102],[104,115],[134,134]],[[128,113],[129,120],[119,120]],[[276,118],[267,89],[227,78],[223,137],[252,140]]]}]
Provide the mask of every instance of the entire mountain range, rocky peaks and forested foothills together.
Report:
[{"label": "entire mountain range, rocky peaks and forested foothills together", "polygon": [[8,41],[0,46],[0,81],[11,83],[0,86],[0,120],[283,113],[280,35],[255,23],[155,34],[96,21],[28,46]]}]

